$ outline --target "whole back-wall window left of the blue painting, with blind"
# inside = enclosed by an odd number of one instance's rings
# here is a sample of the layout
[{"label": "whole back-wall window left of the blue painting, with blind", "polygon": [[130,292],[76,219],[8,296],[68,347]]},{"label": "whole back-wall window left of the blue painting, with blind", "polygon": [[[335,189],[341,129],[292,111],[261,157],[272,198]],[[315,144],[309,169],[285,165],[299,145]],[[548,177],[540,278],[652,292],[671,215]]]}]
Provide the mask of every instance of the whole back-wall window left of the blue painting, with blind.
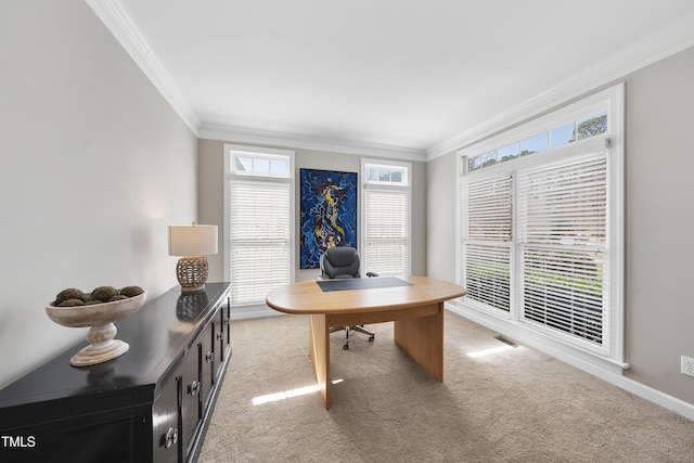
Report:
[{"label": "whole back-wall window left of the blue painting, with blind", "polygon": [[294,273],[294,153],[224,145],[226,278],[231,304],[254,306]]}]

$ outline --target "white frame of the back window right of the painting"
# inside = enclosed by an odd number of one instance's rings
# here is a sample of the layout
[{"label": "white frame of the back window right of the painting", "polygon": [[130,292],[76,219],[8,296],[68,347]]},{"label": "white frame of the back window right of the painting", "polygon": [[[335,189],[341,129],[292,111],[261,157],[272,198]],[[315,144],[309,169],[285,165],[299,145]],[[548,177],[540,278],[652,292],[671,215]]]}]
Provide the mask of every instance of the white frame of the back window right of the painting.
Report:
[{"label": "white frame of the back window right of the painting", "polygon": [[[406,175],[401,179],[400,182],[384,182],[378,180],[368,180],[367,171],[369,167],[382,167],[382,168],[394,168],[397,170],[404,170]],[[367,261],[367,191],[368,190],[382,190],[382,191],[406,191],[406,201],[407,201],[407,258],[406,258],[406,269],[403,276],[410,275],[412,273],[412,163],[406,162],[397,162],[390,159],[373,159],[373,158],[361,158],[361,207],[360,207],[360,219],[361,227],[359,233],[359,248],[362,249],[362,273],[367,272],[380,272],[378,268],[372,268],[373,263]]]}]

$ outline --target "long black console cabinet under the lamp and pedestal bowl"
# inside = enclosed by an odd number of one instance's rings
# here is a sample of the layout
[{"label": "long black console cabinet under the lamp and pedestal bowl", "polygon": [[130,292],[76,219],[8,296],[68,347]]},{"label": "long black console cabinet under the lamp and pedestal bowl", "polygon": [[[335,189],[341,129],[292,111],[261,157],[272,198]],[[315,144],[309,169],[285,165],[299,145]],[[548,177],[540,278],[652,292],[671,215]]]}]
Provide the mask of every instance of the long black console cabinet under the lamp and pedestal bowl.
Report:
[{"label": "long black console cabinet under the lamp and pedestal bowl", "polygon": [[177,286],[116,322],[121,357],[70,366],[85,342],[0,390],[0,461],[195,461],[231,356],[229,288]]}]

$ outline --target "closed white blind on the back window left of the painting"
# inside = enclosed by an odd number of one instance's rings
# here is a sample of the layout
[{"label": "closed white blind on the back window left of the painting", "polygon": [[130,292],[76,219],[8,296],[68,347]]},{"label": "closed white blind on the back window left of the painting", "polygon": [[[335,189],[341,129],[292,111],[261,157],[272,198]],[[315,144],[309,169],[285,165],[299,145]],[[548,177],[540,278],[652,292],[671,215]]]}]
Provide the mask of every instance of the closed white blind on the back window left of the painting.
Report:
[{"label": "closed white blind on the back window left of the painting", "polygon": [[290,183],[233,177],[229,196],[232,305],[262,304],[290,283]]}]

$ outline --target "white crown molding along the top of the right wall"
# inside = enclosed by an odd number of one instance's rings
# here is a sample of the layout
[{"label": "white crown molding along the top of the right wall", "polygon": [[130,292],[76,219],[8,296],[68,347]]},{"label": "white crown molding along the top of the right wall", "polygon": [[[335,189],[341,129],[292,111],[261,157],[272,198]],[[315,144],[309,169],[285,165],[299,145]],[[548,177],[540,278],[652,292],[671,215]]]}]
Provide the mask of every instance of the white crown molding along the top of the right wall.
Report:
[{"label": "white crown molding along the top of the right wall", "polygon": [[650,64],[694,46],[694,14],[638,40],[612,56],[539,95],[511,107],[426,150],[427,160],[480,141],[504,127],[522,123],[571,99],[619,80]]}]

